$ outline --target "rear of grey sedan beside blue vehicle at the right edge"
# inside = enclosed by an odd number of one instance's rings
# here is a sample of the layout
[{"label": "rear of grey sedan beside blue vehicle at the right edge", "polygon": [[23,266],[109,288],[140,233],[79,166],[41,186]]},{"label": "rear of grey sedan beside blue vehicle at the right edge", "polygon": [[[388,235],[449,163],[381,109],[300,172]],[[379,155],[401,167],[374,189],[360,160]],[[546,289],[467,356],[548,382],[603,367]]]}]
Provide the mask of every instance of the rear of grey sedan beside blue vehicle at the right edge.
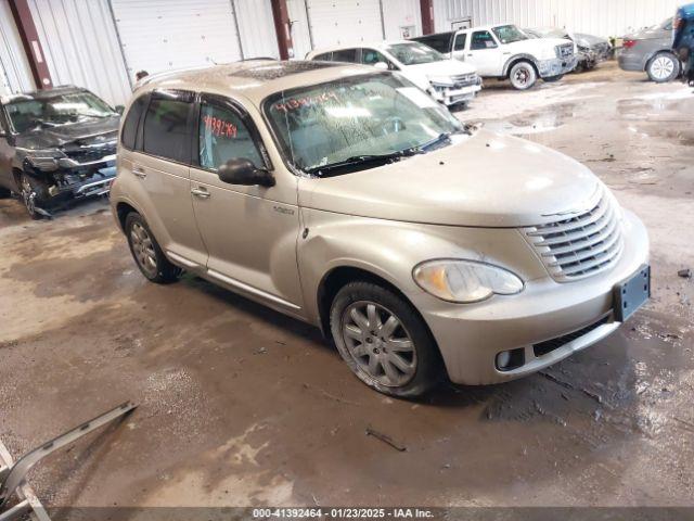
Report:
[{"label": "rear of grey sedan beside blue vehicle at the right edge", "polygon": [[645,71],[658,84],[677,79],[682,63],[672,52],[672,18],[625,37],[619,66],[624,71]]}]

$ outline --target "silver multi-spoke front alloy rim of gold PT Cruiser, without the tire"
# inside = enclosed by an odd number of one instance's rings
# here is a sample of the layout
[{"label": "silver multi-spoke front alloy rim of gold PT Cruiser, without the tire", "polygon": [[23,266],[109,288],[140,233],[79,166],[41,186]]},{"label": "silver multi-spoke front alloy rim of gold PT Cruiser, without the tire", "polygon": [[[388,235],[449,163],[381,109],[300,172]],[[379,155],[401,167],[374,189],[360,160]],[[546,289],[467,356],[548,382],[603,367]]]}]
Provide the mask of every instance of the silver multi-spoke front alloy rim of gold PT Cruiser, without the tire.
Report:
[{"label": "silver multi-spoke front alloy rim of gold PT Cruiser, without the tire", "polygon": [[374,382],[398,387],[414,378],[414,342],[386,307],[370,301],[352,303],[343,313],[342,333],[349,355]]}]

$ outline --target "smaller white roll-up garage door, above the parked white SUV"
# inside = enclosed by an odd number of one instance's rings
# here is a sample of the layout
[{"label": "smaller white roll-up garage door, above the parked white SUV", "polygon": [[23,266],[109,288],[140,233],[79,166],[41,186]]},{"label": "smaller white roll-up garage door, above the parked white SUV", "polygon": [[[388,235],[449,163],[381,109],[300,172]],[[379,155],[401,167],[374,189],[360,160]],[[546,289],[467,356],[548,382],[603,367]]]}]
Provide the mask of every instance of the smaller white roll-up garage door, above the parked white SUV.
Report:
[{"label": "smaller white roll-up garage door, above the parked white SUV", "polygon": [[384,38],[378,0],[306,1],[316,49]]}]

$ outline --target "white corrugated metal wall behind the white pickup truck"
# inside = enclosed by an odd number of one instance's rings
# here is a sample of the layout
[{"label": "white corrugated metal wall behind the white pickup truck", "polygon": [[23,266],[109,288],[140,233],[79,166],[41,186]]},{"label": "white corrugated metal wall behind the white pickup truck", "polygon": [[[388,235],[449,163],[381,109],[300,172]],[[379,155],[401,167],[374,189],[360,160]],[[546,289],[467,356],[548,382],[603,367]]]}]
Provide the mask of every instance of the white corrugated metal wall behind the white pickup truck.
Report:
[{"label": "white corrugated metal wall behind the white pickup truck", "polygon": [[473,25],[510,22],[556,26],[596,36],[624,36],[672,16],[682,0],[434,0],[436,30],[471,16]]}]

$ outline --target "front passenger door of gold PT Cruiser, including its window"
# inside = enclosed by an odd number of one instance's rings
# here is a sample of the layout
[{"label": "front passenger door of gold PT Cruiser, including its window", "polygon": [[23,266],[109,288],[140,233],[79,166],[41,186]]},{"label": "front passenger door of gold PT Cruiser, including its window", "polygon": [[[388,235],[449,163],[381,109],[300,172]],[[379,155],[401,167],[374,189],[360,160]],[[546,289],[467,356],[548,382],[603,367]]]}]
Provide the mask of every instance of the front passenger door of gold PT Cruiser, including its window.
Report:
[{"label": "front passenger door of gold PT Cruiser, including its window", "polygon": [[227,98],[201,98],[197,129],[191,192],[209,254],[208,276],[270,306],[300,315],[296,178],[277,177],[274,187],[229,185],[219,179],[219,167],[231,158],[247,158],[258,168],[272,168],[253,119]]}]

